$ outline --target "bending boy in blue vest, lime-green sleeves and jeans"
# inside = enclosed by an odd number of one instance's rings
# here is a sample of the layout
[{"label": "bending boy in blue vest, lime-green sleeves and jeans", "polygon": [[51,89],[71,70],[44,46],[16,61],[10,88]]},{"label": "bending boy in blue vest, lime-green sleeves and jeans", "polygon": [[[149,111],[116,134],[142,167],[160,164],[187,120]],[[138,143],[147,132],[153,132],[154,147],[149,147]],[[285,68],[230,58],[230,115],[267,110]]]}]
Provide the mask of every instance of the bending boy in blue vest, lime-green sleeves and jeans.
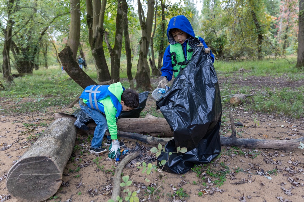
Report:
[{"label": "bending boy in blue vest, lime-green sleeves and jeans", "polygon": [[90,152],[94,154],[105,153],[102,148],[102,139],[105,131],[109,129],[105,145],[110,145],[109,157],[115,158],[120,147],[124,146],[117,140],[116,120],[121,111],[130,111],[138,107],[138,93],[133,89],[122,87],[120,82],[111,85],[91,85],[82,92],[79,105],[82,111],[90,116],[96,123]]}]

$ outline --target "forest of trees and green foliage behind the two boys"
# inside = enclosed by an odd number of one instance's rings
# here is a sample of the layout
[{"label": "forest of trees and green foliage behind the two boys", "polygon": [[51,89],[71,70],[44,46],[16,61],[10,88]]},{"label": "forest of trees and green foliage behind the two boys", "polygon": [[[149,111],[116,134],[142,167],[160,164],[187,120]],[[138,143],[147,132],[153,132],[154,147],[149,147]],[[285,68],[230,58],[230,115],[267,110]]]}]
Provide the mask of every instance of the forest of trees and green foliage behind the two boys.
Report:
[{"label": "forest of trees and green foliage behind the two boys", "polygon": [[[304,66],[303,0],[8,0],[0,6],[0,63],[8,86],[12,72],[56,65],[81,87],[127,77],[131,88],[151,90],[149,78],[160,75],[175,15],[190,20],[216,61],[295,54],[296,67]],[[95,65],[97,78],[78,68],[77,55]]]}]

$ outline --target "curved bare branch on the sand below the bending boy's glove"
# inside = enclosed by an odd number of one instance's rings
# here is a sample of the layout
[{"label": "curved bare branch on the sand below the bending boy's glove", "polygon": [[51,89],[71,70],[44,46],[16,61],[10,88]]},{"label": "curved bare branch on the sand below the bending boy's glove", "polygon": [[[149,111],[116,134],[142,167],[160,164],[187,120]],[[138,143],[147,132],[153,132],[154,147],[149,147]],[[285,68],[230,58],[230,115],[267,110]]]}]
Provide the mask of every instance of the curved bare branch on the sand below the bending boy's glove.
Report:
[{"label": "curved bare branch on the sand below the bending boy's glove", "polygon": [[140,154],[140,151],[136,151],[134,153],[126,155],[126,157],[123,158],[123,160],[120,162],[120,164],[115,169],[115,175],[113,177],[113,189],[112,189],[112,197],[111,199],[114,201],[116,200],[116,197],[120,194],[120,178],[121,173],[123,171],[123,168],[128,164],[130,161],[132,161],[135,157],[137,157]]}]

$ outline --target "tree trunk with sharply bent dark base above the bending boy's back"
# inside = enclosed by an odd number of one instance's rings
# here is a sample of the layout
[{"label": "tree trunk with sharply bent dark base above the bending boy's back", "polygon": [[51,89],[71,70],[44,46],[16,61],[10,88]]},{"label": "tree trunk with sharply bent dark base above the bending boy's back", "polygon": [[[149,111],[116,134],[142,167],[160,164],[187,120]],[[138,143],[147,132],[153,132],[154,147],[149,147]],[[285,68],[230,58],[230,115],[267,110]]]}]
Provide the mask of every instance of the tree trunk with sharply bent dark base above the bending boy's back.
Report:
[{"label": "tree trunk with sharply bent dark base above the bending boy's back", "polygon": [[69,37],[65,48],[59,53],[59,58],[67,74],[82,88],[86,88],[89,85],[96,85],[96,82],[79,68],[76,61],[80,38],[80,2],[79,0],[70,0],[70,2],[71,25]]}]

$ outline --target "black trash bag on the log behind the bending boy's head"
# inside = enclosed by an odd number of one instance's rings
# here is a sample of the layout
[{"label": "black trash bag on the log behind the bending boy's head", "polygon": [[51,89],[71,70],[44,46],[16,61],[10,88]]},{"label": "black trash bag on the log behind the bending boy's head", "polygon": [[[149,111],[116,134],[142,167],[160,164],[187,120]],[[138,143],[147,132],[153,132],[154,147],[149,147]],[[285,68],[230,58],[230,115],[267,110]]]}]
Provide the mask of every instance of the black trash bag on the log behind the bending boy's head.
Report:
[{"label": "black trash bag on the log behind the bending boy's head", "polygon": [[139,97],[139,106],[136,109],[130,111],[122,111],[118,118],[139,118],[140,112],[146,107],[147,98],[149,91],[142,92],[138,94]]}]

